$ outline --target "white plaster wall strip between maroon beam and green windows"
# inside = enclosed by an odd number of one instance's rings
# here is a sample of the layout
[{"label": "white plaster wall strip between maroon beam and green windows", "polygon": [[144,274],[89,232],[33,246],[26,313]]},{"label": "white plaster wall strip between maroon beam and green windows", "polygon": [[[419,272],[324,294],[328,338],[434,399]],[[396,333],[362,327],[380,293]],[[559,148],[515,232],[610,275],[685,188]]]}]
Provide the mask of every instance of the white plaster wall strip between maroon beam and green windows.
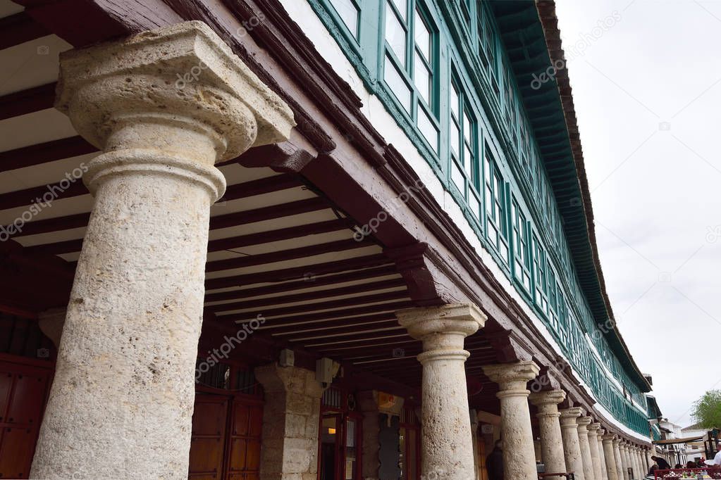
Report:
[{"label": "white plaster wall strip between maroon beam and green windows", "polygon": [[[353,68],[353,65],[350,61],[348,61],[348,58],[345,57],[345,54],[342,52],[332,35],[329,34],[325,25],[317,17],[310,4],[306,0],[280,0],[280,2],[283,4],[290,17],[304,30],[306,36],[309,37],[311,42],[313,42],[316,50],[320,53],[320,55],[322,55],[324,60],[333,67],[339,76],[350,84],[355,94],[361,98],[363,101],[362,112],[366,118],[368,118],[371,124],[373,124],[373,127],[375,127],[376,130],[384,136],[386,141],[392,143],[399,153],[403,155],[417,176],[419,176],[423,181],[426,189],[433,194],[433,197],[436,201],[438,201],[438,204],[441,204],[456,226],[459,227],[461,232],[463,232],[466,239],[469,240],[469,243],[473,245],[476,253],[479,255],[483,263],[485,263],[485,265],[490,269],[493,276],[500,281],[500,284],[503,285],[505,291],[508,291],[510,296],[512,296],[513,299],[521,305],[521,308],[524,312],[526,312],[528,317],[533,320],[534,325],[536,325],[536,328],[539,329],[546,343],[551,345],[559,356],[564,356],[561,348],[554,340],[552,333],[548,330],[544,322],[542,322],[541,319],[536,316],[534,311],[528,307],[526,301],[523,300],[520,294],[518,294],[518,291],[516,291],[513,284],[511,284],[508,280],[508,277],[506,277],[505,273],[503,273],[503,271],[498,267],[490,253],[482,248],[479,238],[466,221],[460,207],[456,204],[453,196],[451,196],[451,194],[443,187],[441,181],[439,181],[435,176],[435,173],[433,173],[433,169],[430,168],[428,162],[420,155],[420,153],[418,153],[415,145],[413,145],[413,143],[407,138],[392,115],[386,111],[386,108],[381,101],[376,96],[368,92],[365,86],[363,86],[363,81],[358,74],[355,73],[355,68]],[[581,379],[577,372],[574,371],[573,373],[578,379]],[[583,387],[594,399],[596,399],[593,395],[593,391],[585,386],[585,384],[583,384]],[[601,404],[596,404],[596,408],[598,409],[600,415],[603,415],[608,422],[616,425],[619,430],[623,430],[624,433],[627,433],[629,436],[634,438],[646,441],[648,440],[646,436],[635,433],[616,421],[613,415],[604,409]]]}]

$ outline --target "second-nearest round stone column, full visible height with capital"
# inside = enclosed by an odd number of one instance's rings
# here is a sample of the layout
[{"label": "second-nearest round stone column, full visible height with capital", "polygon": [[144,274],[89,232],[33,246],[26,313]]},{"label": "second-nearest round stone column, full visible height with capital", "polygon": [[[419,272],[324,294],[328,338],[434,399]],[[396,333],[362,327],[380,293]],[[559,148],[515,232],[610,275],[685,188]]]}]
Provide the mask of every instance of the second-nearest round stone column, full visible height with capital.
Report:
[{"label": "second-nearest round stone column, full visible height with capital", "polygon": [[473,304],[396,312],[400,325],[423,341],[421,470],[432,478],[474,480],[464,338],[485,325]]}]

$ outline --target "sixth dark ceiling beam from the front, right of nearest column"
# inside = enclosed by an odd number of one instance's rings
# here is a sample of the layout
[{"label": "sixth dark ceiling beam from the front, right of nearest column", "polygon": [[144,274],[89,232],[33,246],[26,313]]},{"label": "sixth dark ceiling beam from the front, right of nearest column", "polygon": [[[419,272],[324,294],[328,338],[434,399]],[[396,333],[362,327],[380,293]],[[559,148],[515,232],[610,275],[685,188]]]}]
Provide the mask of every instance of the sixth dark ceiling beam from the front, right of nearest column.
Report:
[{"label": "sixth dark ceiling beam from the front, right of nearest column", "polygon": [[283,284],[257,286],[250,289],[220,291],[215,294],[206,294],[205,302],[218,302],[220,300],[251,298],[253,296],[270,294],[286,294],[288,293],[288,291],[293,290],[304,290],[312,288],[314,286],[344,284],[350,281],[372,279],[374,277],[387,276],[394,273],[396,273],[396,271],[392,266],[384,266],[377,268],[367,268],[366,270],[337,273],[328,276],[314,276],[309,279],[289,281]]}]

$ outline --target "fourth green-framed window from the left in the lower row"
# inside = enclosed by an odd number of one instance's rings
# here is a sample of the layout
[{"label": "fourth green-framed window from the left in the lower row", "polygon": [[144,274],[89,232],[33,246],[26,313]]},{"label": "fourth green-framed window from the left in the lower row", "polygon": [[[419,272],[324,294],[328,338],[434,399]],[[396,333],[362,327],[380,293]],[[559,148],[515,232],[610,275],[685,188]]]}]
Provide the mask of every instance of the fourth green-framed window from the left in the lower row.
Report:
[{"label": "fourth green-framed window from the left in the lower row", "polygon": [[484,149],[483,167],[486,235],[492,248],[500,254],[505,265],[508,265],[508,220],[506,217],[508,209],[506,208],[505,194],[508,186],[503,181],[503,175],[487,144]]}]

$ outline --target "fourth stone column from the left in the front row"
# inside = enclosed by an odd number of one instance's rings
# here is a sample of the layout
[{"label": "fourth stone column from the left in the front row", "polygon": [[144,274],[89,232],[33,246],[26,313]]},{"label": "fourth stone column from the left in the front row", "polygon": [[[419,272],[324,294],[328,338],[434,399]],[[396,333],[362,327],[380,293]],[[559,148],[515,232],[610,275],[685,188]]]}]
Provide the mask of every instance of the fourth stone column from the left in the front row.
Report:
[{"label": "fourth stone column from the left in the front row", "polygon": [[538,407],[536,417],[541,432],[541,457],[547,473],[567,471],[559,422],[561,414],[558,412],[558,404],[565,398],[566,392],[562,390],[539,391],[528,397]]}]

